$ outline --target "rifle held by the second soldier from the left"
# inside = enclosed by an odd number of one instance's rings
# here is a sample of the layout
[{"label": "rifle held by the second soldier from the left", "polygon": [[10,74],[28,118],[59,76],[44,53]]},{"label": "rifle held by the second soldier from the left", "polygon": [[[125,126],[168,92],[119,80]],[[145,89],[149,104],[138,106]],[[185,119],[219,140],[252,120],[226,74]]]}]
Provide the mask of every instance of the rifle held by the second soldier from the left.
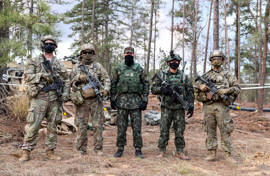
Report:
[{"label": "rifle held by the second soldier from the left", "polygon": [[90,73],[88,72],[88,69],[85,63],[82,63],[82,65],[78,67],[82,69],[83,72],[87,73],[87,78],[89,80],[89,81],[86,81],[85,83],[86,85],[82,88],[82,90],[87,90],[93,87],[95,90],[96,96],[98,97],[98,100],[101,102],[103,106],[104,111],[107,111],[107,108],[103,104],[103,98],[101,97],[100,92],[99,92],[99,88],[101,86],[100,81],[98,79],[94,80],[93,76],[91,76]]}]

